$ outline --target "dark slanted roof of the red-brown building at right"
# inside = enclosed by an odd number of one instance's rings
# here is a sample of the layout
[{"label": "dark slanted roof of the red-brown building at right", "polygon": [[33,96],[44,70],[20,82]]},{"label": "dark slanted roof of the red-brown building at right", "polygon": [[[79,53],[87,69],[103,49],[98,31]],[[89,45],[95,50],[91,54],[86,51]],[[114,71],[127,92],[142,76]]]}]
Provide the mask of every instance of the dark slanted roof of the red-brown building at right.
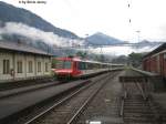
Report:
[{"label": "dark slanted roof of the red-brown building at right", "polygon": [[163,43],[162,45],[159,45],[157,49],[153,50],[152,52],[147,53],[144,58],[151,56],[153,54],[156,54],[158,52],[162,52],[166,50],[166,43]]}]

